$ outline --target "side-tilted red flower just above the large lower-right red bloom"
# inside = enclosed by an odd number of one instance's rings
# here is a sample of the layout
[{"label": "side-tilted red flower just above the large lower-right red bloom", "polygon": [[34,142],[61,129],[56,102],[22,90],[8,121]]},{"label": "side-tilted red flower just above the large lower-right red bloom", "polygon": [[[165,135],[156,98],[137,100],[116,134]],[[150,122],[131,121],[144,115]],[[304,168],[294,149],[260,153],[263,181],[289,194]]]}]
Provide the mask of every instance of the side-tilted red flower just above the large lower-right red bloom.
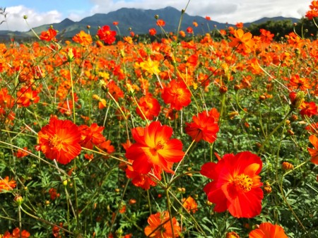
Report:
[{"label": "side-tilted red flower just above the large lower-right red bloom", "polygon": [[216,133],[218,133],[218,124],[214,117],[208,112],[201,112],[198,116],[192,117],[193,122],[186,122],[185,131],[194,141],[207,141],[213,143],[216,141]]}]

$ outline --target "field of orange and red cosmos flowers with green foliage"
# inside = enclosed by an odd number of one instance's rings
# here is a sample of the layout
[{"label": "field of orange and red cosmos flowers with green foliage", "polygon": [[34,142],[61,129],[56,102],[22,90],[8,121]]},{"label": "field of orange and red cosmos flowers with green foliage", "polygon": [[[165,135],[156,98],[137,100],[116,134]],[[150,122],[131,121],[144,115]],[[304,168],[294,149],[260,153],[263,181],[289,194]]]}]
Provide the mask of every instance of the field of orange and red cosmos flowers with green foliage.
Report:
[{"label": "field of orange and red cosmos flowers with green foliage", "polygon": [[0,237],[318,237],[318,41],[155,18],[0,44]]}]

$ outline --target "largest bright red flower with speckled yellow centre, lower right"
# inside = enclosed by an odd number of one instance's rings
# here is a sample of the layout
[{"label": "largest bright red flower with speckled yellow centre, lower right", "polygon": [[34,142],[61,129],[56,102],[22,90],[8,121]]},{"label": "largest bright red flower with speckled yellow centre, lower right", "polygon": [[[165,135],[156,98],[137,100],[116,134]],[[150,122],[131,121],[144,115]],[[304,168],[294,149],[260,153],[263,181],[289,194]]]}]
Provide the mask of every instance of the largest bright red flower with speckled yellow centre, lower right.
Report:
[{"label": "largest bright red flower with speckled yellow centre, lower right", "polygon": [[213,179],[204,191],[208,201],[215,203],[214,210],[228,210],[236,218],[253,218],[261,213],[263,191],[259,172],[261,159],[248,151],[237,155],[224,155],[217,163],[208,162],[201,174]]}]

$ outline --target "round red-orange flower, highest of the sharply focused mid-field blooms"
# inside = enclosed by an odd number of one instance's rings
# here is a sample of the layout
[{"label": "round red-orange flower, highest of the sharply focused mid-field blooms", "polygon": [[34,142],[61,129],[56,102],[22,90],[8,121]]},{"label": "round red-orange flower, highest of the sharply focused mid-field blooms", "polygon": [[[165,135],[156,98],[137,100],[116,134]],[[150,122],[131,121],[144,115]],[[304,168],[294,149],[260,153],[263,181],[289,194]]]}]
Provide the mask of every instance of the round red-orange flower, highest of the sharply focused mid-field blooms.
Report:
[{"label": "round red-orange flower, highest of the sharply focused mid-field blooms", "polygon": [[169,85],[163,88],[161,95],[166,104],[170,104],[172,109],[181,110],[191,102],[191,93],[183,82],[170,81]]}]

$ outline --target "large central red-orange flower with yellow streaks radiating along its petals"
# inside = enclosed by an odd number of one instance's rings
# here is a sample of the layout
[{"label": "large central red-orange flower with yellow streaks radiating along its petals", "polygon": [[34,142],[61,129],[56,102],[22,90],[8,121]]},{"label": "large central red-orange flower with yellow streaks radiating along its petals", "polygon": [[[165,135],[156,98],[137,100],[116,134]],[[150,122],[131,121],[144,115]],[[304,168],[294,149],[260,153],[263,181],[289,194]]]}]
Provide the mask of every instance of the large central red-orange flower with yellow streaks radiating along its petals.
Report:
[{"label": "large central red-orange flower with yellow streaks radiating along its petals", "polygon": [[170,139],[172,133],[172,128],[161,125],[160,121],[153,121],[145,128],[132,129],[136,143],[126,150],[126,157],[134,160],[134,171],[147,174],[151,169],[159,171],[162,168],[173,173],[173,163],[182,160],[184,152],[181,141]]}]

